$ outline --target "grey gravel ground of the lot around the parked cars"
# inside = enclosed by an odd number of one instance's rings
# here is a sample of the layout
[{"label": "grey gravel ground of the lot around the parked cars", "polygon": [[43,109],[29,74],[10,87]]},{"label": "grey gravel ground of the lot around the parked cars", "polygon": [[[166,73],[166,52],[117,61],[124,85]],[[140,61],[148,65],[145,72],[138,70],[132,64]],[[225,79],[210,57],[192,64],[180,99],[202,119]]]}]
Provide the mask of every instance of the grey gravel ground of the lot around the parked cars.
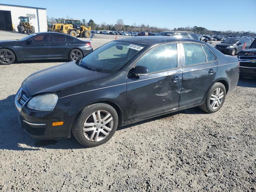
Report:
[{"label": "grey gravel ground of the lot around the parked cars", "polygon": [[[110,40],[95,38],[92,46]],[[62,62],[0,66],[0,191],[255,191],[255,80],[240,79],[214,114],[183,110],[83,148],[74,138],[30,138],[18,126],[14,96],[22,81]]]}]

